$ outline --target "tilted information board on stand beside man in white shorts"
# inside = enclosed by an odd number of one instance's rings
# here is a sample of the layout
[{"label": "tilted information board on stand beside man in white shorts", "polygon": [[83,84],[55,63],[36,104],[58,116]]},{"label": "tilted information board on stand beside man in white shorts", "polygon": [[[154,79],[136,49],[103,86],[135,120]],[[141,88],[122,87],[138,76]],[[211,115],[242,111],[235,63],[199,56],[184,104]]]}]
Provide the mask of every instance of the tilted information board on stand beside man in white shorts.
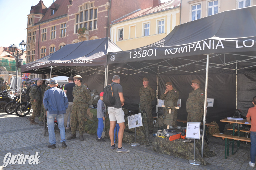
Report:
[{"label": "tilted information board on stand beside man in white shorts", "polygon": [[135,128],[134,129],[134,143],[131,143],[131,146],[140,146],[139,143],[136,143],[136,127],[142,126],[141,113],[128,116],[127,120],[128,120],[129,129]]}]

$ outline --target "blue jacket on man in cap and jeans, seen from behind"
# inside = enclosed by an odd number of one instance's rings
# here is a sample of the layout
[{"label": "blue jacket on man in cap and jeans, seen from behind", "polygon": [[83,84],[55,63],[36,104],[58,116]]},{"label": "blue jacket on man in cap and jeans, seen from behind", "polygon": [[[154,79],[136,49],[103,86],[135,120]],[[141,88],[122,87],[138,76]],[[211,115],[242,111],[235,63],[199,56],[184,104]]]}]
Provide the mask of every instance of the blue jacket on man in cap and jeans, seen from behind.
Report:
[{"label": "blue jacket on man in cap and jeans, seen from behind", "polygon": [[63,90],[52,87],[45,91],[43,104],[49,114],[64,114],[68,108],[68,98]]}]

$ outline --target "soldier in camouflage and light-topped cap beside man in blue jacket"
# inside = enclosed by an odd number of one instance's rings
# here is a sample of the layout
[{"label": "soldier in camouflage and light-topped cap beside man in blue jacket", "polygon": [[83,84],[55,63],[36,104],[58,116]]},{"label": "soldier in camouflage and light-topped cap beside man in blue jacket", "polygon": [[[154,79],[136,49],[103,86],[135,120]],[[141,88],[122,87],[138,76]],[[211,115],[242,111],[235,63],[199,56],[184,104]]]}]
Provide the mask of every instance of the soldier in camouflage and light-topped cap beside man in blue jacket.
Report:
[{"label": "soldier in camouflage and light-topped cap beside man in blue jacket", "polygon": [[84,121],[86,119],[86,111],[88,109],[87,102],[91,99],[91,93],[86,85],[82,84],[82,77],[80,75],[74,76],[74,83],[76,84],[73,87],[73,106],[70,114],[70,126],[72,134],[67,138],[67,140],[76,138],[76,128],[77,122],[79,124],[79,138],[84,140]]}]

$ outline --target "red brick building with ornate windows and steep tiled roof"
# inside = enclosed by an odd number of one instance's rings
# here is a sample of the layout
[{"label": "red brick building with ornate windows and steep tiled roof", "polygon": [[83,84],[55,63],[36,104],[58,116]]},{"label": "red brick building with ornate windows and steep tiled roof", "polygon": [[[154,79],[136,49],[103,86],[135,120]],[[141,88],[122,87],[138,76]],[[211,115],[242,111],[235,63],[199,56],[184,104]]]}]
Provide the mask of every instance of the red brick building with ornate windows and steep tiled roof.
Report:
[{"label": "red brick building with ornate windows and steep tiled roof", "polygon": [[[153,0],[56,0],[47,8],[40,0],[31,6],[28,15],[26,62],[54,53],[66,44],[110,36],[111,21],[150,6]],[[82,27],[87,30],[79,35]]]}]

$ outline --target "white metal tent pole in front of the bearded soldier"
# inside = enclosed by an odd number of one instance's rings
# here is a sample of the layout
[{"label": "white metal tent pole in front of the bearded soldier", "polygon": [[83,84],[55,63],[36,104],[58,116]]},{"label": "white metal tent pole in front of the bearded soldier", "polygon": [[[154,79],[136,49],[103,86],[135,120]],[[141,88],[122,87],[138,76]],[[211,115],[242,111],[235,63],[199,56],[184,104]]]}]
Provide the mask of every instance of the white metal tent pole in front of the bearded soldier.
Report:
[{"label": "white metal tent pole in front of the bearded soldier", "polygon": [[208,71],[209,71],[209,54],[207,54],[206,60],[206,73],[205,73],[205,103],[204,103],[204,119],[203,119],[203,134],[202,134],[202,147],[201,147],[201,157],[204,155],[204,139],[205,139],[205,120],[206,120],[206,102],[207,102],[207,89],[208,89]]}]

